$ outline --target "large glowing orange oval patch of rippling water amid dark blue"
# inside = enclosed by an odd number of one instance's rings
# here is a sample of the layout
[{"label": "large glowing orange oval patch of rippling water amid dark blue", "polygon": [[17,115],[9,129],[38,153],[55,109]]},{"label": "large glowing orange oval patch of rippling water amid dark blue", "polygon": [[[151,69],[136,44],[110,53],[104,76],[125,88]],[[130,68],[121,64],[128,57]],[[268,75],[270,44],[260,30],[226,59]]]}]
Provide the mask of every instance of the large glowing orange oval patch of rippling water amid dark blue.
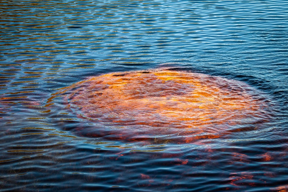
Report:
[{"label": "large glowing orange oval patch of rippling water amid dark blue", "polygon": [[89,136],[189,143],[267,120],[263,95],[246,83],[170,70],[109,73],[71,85],[67,107],[97,122]]}]

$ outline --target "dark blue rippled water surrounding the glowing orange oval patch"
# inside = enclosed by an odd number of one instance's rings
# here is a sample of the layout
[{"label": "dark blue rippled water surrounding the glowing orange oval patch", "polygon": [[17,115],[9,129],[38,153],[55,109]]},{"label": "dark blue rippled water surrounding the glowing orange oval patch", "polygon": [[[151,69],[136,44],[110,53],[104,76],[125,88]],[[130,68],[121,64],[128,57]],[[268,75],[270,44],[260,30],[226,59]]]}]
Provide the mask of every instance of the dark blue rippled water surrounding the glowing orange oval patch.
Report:
[{"label": "dark blue rippled water surrounding the glowing orange oval patch", "polygon": [[[287,1],[2,0],[0,17],[0,191],[288,191]],[[82,134],[97,122],[51,98],[161,67],[247,83],[270,119],[197,142],[131,142]]]}]

